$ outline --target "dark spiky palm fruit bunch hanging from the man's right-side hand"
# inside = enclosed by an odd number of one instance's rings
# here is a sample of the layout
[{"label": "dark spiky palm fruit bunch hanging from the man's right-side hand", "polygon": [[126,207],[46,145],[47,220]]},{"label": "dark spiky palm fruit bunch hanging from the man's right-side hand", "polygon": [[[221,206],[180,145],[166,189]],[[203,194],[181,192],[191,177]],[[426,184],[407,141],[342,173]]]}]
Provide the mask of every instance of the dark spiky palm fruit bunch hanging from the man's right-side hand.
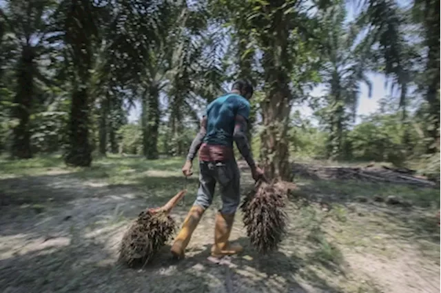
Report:
[{"label": "dark spiky palm fruit bunch hanging from the man's right-side hand", "polygon": [[240,205],[247,236],[261,254],[276,250],[286,234],[286,194],[280,185],[260,179]]}]

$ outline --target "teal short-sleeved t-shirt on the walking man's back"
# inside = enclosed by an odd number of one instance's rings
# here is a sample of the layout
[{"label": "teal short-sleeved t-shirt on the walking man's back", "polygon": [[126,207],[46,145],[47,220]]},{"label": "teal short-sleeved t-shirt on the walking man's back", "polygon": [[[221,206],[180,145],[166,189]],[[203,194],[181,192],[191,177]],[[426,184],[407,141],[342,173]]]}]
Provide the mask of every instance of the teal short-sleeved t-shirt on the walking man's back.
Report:
[{"label": "teal short-sleeved t-shirt on the walking man's back", "polygon": [[209,145],[233,146],[235,117],[240,115],[248,120],[249,111],[249,101],[240,94],[225,94],[209,103],[205,112],[207,134],[203,142]]}]

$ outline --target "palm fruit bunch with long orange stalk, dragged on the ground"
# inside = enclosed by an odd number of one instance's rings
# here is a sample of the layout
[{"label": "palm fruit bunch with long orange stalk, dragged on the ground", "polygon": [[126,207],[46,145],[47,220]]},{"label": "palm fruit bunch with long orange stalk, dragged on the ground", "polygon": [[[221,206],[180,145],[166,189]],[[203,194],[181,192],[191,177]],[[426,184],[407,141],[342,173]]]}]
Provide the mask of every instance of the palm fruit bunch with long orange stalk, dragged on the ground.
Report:
[{"label": "palm fruit bunch with long orange stalk, dragged on the ground", "polygon": [[119,259],[130,267],[146,265],[152,257],[169,241],[176,223],[170,212],[183,198],[186,190],[181,190],[161,208],[143,210],[123,235],[119,248]]}]

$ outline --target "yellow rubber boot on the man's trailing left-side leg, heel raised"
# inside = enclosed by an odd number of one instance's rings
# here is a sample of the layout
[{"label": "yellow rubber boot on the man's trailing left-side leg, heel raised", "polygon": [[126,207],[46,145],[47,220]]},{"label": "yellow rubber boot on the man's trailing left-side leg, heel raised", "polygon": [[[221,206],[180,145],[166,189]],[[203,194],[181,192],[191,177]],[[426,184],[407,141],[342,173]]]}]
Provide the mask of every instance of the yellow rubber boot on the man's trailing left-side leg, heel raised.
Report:
[{"label": "yellow rubber boot on the man's trailing left-side leg, heel raised", "polygon": [[187,214],[187,218],[182,225],[181,231],[179,231],[178,236],[174,239],[171,252],[174,257],[178,259],[183,259],[185,256],[185,248],[187,247],[190,238],[205,210],[198,205],[193,205]]}]

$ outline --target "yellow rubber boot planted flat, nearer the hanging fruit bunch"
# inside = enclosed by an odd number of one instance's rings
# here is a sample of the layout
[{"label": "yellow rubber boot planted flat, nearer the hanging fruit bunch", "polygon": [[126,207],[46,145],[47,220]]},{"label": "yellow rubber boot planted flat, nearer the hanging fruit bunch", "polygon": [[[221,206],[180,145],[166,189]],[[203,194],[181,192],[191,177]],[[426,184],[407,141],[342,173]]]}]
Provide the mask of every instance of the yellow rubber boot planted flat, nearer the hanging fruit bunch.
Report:
[{"label": "yellow rubber boot planted flat, nearer the hanging fruit bunch", "polygon": [[229,234],[232,232],[234,214],[216,214],[216,224],[214,227],[214,245],[212,246],[212,256],[220,258],[226,255],[238,254],[243,251],[239,244],[229,243]]}]

